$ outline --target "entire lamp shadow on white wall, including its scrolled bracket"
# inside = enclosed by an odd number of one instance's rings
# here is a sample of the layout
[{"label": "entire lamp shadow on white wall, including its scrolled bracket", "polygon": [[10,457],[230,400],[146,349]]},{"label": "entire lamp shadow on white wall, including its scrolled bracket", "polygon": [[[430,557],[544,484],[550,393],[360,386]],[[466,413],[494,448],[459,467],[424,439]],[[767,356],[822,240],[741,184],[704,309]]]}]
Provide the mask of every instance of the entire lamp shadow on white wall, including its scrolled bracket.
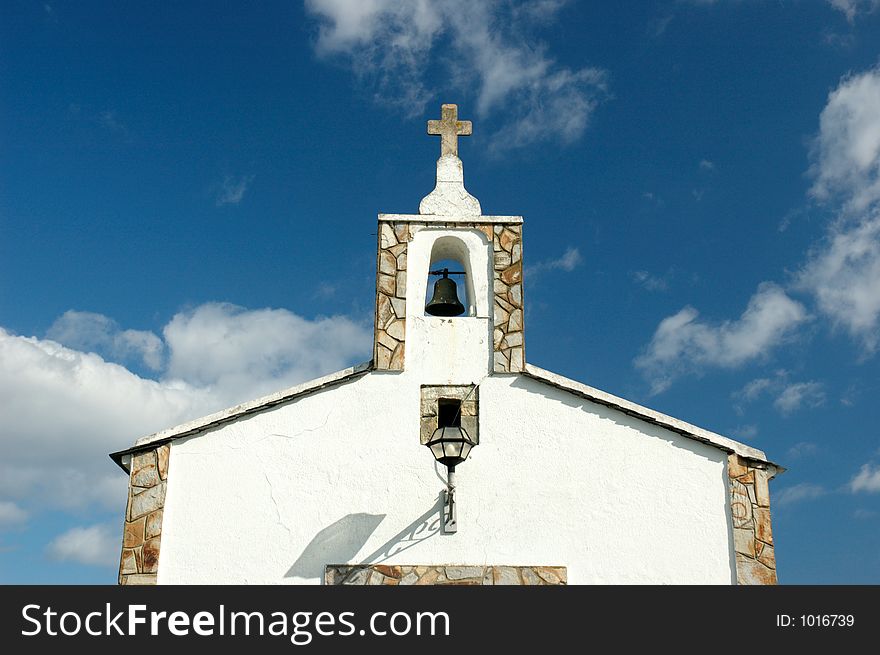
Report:
[{"label": "entire lamp shadow on white wall, including its scrolled bracket", "polygon": [[[442,512],[443,494],[440,493],[427,512],[356,563],[384,562],[397,553],[439,534]],[[352,559],[364,547],[385,516],[385,514],[347,514],[328,525],[309,542],[284,577],[323,579],[324,568],[328,564],[355,563]]]}]

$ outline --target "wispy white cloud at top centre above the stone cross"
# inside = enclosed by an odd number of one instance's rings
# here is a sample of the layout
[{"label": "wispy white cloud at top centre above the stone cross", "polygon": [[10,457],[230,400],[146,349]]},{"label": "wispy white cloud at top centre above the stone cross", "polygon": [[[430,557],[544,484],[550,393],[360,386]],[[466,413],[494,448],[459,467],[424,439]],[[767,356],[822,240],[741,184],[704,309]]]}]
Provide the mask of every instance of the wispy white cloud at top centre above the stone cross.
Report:
[{"label": "wispy white cloud at top centre above the stone cross", "polygon": [[318,54],[347,57],[377,99],[419,115],[435,95],[426,73],[439,69],[448,77],[438,84],[474,90],[480,116],[503,106],[511,118],[493,140],[503,149],[576,140],[605,95],[604,71],[560,67],[530,38],[564,4],[306,0],[306,9],[320,23]]}]

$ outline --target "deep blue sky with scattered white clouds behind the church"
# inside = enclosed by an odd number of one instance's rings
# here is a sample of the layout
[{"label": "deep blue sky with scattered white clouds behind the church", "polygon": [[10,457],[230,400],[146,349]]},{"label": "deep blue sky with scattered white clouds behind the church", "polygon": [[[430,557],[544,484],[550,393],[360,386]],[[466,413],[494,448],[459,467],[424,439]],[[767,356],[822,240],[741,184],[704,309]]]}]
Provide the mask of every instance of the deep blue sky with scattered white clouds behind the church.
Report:
[{"label": "deep blue sky with scattered white clouds behind the church", "polygon": [[113,583],[139,436],[369,359],[376,214],[525,218],[528,361],[764,450],[880,583],[880,2],[0,7],[0,582]]}]

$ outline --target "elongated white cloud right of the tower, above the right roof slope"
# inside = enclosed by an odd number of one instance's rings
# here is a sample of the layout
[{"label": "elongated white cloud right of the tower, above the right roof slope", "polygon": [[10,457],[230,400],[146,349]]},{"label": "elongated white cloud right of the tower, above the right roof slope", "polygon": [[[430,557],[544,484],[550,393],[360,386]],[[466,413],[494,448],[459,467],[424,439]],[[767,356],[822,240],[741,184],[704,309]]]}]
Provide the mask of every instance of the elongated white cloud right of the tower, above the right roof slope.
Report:
[{"label": "elongated white cloud right of the tower, above the right roof slope", "polygon": [[685,307],[663,319],[635,365],[652,393],[667,389],[676,377],[709,367],[734,368],[766,357],[808,319],[803,305],[776,284],[763,282],[736,321],[710,325]]}]

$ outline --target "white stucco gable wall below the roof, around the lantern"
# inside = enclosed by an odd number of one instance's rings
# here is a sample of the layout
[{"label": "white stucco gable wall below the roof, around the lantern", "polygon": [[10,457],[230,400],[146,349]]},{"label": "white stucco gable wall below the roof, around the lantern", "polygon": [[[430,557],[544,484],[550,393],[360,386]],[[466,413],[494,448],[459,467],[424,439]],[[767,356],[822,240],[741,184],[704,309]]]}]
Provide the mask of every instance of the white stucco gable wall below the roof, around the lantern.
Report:
[{"label": "white stucco gable wall below the roof, around the lantern", "polygon": [[159,582],[317,584],[340,563],[734,580],[726,453],[523,376],[481,382],[458,532],[440,534],[445,469],[419,444],[419,384],[437,381],[413,370],[174,441]]}]

